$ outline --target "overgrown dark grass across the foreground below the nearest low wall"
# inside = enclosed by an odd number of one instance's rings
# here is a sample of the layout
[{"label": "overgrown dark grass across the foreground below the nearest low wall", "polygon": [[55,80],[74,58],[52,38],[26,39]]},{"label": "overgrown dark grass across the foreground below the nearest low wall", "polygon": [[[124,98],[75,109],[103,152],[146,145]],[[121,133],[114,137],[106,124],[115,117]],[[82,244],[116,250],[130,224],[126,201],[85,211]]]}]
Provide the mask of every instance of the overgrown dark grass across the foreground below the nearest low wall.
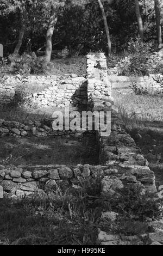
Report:
[{"label": "overgrown dark grass across the foreground below the nearest low wall", "polygon": [[[156,202],[128,189],[121,190],[120,198],[105,196],[101,179],[80,181],[66,191],[57,186],[32,198],[0,200],[0,245],[99,245],[98,228],[121,234],[124,241],[126,235],[153,231],[145,220],[159,215]],[[110,210],[119,213],[114,224],[101,218],[102,211]]]}]

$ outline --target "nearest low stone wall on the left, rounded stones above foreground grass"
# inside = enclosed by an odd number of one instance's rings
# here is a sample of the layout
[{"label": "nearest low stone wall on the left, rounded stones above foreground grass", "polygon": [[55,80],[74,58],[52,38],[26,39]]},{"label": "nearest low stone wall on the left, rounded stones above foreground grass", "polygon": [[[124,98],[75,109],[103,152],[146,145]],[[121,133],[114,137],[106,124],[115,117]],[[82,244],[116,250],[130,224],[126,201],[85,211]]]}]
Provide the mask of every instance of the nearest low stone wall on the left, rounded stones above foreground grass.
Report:
[{"label": "nearest low stone wall on the left, rounded stones above foreground grass", "polygon": [[[57,184],[79,185],[81,179],[97,176],[108,172],[106,166],[78,164],[74,167],[65,165],[48,166],[0,166],[0,184],[3,196],[17,198],[43,190],[52,190]],[[2,195],[1,195],[2,196]]]}]

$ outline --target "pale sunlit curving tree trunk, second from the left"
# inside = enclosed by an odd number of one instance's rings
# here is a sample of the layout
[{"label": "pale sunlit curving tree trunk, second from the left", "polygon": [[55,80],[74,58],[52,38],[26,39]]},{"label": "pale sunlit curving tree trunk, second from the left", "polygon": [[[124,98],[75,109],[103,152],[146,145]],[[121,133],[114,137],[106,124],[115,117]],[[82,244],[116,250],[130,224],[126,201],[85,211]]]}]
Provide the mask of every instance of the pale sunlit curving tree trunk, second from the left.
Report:
[{"label": "pale sunlit curving tree trunk, second from the left", "polygon": [[49,20],[49,25],[46,33],[46,52],[45,52],[45,60],[46,62],[51,61],[51,56],[52,56],[52,36],[54,32],[54,25],[57,22],[57,17],[55,13],[55,8],[52,6],[51,10],[51,17]]}]

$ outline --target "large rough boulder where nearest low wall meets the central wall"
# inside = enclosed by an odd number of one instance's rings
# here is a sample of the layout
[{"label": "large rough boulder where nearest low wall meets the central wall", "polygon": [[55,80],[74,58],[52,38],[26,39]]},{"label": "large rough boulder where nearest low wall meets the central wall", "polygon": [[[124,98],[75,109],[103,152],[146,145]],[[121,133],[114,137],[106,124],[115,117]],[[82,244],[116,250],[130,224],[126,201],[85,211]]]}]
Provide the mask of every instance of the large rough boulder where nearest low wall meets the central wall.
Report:
[{"label": "large rough boulder where nearest low wall meets the central wall", "polygon": [[102,179],[102,192],[109,192],[110,190],[116,191],[123,188],[123,183],[118,178],[111,178],[110,176],[105,176]]}]

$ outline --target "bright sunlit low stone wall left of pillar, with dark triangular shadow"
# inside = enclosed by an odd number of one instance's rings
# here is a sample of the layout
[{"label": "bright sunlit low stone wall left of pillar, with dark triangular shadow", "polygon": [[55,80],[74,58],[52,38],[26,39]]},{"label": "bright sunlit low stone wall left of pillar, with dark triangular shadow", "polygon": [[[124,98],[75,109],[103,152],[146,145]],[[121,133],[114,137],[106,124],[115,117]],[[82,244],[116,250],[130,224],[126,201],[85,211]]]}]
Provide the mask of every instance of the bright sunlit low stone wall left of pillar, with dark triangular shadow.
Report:
[{"label": "bright sunlit low stone wall left of pillar, with dark triangular shadow", "polygon": [[37,88],[39,92],[29,96],[32,105],[64,107],[87,104],[87,84],[84,77],[75,74],[65,76],[5,76],[0,80],[0,104],[10,103],[16,87]]}]

